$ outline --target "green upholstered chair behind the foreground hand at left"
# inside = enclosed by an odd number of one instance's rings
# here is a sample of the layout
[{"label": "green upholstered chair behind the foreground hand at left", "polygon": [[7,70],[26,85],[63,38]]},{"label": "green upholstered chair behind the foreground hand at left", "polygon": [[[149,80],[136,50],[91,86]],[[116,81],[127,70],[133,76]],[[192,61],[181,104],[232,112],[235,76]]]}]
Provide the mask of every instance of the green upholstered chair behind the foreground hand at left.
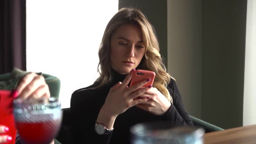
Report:
[{"label": "green upholstered chair behind the foreground hand at left", "polygon": [[[9,81],[11,73],[0,74],[0,82]],[[60,80],[56,76],[42,73],[46,84],[49,86],[51,97],[59,98]]]}]

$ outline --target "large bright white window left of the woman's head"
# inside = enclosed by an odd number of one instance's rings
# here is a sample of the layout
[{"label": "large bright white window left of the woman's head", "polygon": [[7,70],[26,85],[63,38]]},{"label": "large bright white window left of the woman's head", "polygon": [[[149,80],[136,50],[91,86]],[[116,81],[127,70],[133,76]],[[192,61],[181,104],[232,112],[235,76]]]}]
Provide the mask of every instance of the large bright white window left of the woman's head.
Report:
[{"label": "large bright white window left of the woman's head", "polygon": [[98,48],[118,0],[26,0],[26,69],[61,80],[59,100],[98,77]]}]

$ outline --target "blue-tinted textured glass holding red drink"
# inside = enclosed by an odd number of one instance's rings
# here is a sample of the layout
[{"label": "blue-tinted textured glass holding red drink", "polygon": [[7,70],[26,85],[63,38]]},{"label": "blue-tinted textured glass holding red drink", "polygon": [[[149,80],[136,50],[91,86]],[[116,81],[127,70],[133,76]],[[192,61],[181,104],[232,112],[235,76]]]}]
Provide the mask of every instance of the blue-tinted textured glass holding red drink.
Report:
[{"label": "blue-tinted textured glass holding red drink", "polygon": [[49,144],[62,122],[61,104],[55,98],[13,101],[16,129],[23,144]]}]

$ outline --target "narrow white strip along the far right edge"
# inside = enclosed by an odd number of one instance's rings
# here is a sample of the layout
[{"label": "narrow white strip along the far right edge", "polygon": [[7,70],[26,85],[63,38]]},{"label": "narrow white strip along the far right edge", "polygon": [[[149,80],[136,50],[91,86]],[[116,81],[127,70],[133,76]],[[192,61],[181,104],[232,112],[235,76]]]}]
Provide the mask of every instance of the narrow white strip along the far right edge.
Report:
[{"label": "narrow white strip along the far right edge", "polygon": [[247,0],[243,126],[256,124],[256,1]]}]

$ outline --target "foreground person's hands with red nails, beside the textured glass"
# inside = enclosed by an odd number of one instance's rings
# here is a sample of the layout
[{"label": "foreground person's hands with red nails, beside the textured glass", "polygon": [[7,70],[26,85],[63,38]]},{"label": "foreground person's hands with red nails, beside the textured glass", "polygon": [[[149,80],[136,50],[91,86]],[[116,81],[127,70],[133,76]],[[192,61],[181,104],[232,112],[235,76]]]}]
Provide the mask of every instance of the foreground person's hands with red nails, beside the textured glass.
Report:
[{"label": "foreground person's hands with red nails, beside the textured glass", "polygon": [[[27,98],[49,98],[50,92],[49,87],[42,75],[29,72],[19,81],[19,84],[15,90],[13,90],[12,95],[14,98],[26,100]],[[0,136],[0,144],[13,141],[13,139],[16,139],[16,144],[20,144],[19,135],[17,134],[17,137],[10,137],[9,135],[4,134],[7,131],[9,131],[9,128],[0,124],[0,134],[3,134]],[[52,141],[50,144],[54,144],[54,141]]]}]

